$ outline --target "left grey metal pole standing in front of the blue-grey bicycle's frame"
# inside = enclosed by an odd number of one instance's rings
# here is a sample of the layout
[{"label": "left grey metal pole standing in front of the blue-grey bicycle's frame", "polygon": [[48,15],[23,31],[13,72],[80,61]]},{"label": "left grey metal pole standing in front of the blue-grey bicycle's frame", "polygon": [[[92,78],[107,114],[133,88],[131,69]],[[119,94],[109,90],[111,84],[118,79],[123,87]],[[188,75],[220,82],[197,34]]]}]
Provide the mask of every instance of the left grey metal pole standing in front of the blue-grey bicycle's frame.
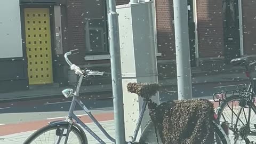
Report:
[{"label": "left grey metal pole standing in front of the blue-grey bicycle's frame", "polygon": [[111,76],[114,103],[115,136],[117,144],[124,144],[124,104],[121,73],[121,58],[119,45],[118,14],[116,13],[116,1],[109,0],[108,29],[109,49],[111,61]]}]

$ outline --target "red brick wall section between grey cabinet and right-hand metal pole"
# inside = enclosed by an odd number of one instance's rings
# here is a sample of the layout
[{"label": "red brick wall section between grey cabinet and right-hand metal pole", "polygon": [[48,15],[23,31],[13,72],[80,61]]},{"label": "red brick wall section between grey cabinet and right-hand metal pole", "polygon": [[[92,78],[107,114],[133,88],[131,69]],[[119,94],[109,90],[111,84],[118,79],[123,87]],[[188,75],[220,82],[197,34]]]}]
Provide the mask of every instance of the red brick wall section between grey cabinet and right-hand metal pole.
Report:
[{"label": "red brick wall section between grey cabinet and right-hand metal pole", "polygon": [[156,2],[156,28],[158,59],[175,59],[175,37],[173,21],[173,1],[158,0]]}]

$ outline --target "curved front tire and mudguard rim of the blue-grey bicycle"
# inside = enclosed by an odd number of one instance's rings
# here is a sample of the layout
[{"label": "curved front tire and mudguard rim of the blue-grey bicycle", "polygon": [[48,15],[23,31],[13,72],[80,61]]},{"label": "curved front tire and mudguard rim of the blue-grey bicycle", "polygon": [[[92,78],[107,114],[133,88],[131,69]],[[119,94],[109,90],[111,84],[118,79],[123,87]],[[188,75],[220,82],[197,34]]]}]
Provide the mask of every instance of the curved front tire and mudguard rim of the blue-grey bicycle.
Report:
[{"label": "curved front tire and mudguard rim of the blue-grey bicycle", "polygon": [[[47,132],[49,130],[58,129],[59,127],[67,129],[68,123],[66,123],[66,124],[57,124],[57,125],[50,125],[50,124],[46,125],[46,126],[42,127],[41,129],[38,129],[37,131],[35,131],[33,134],[31,134],[30,137],[28,137],[26,139],[26,141],[23,142],[23,144],[30,144],[31,142],[33,142],[37,137],[39,137],[44,132]],[[82,141],[82,144],[88,144],[86,135],[84,135],[81,131],[79,131],[74,125],[71,127],[71,132],[74,132],[74,133],[77,134],[79,139]]]}]

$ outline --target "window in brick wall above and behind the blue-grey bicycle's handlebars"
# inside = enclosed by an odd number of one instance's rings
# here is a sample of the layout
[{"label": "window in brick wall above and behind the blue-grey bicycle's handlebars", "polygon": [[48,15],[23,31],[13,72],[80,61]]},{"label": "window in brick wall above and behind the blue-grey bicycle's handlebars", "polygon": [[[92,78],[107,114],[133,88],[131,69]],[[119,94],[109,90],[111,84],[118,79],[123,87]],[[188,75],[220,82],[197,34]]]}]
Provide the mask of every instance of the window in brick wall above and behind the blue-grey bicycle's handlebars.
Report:
[{"label": "window in brick wall above and behind the blue-grey bicycle's handlebars", "polygon": [[[90,1],[90,7],[86,7],[85,12],[85,49],[86,55],[109,54],[108,52],[108,26],[107,26],[107,11],[106,1]],[[102,11],[97,9],[97,12],[91,12],[90,9],[98,6],[102,7]]]}]

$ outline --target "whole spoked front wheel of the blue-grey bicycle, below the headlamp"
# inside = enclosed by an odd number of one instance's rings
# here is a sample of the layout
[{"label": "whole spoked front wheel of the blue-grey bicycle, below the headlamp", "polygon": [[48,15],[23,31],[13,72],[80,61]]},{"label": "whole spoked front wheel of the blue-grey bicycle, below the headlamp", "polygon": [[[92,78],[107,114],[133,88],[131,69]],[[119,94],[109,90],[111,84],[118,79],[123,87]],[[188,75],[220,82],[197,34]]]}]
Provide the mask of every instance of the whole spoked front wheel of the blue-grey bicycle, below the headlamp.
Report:
[{"label": "whole spoked front wheel of the blue-grey bicycle, below the headlamp", "polygon": [[[68,124],[46,125],[30,137],[23,144],[62,144],[65,143]],[[87,144],[87,138],[75,126],[71,127],[67,144]],[[65,143],[66,144],[66,143]]]}]

